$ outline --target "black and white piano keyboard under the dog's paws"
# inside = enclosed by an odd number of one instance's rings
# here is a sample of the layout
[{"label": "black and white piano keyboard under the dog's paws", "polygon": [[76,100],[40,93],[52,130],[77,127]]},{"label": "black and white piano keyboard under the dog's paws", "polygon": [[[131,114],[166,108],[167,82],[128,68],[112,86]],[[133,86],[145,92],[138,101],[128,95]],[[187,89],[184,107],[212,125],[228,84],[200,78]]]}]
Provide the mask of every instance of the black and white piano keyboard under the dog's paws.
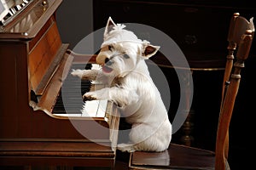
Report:
[{"label": "black and white piano keyboard under the dog's paws", "polygon": [[[81,69],[81,65],[72,65],[73,69]],[[99,65],[88,64],[85,69],[101,69]],[[83,94],[103,86],[95,81],[80,80],[70,73],[65,79],[52,113],[56,116],[104,117],[108,99],[83,101]]]}]

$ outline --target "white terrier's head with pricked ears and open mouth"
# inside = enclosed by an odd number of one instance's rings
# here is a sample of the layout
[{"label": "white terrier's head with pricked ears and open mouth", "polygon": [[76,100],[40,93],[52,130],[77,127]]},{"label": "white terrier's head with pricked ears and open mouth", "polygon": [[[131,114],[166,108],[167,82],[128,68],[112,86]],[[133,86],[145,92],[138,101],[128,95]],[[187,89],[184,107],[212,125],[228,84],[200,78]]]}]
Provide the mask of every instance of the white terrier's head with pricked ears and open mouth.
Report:
[{"label": "white terrier's head with pricked ears and open mouth", "polygon": [[102,48],[96,57],[96,63],[102,65],[102,71],[107,76],[125,77],[136,69],[140,59],[148,59],[160,48],[138,39],[132,31],[124,28],[109,17]]}]

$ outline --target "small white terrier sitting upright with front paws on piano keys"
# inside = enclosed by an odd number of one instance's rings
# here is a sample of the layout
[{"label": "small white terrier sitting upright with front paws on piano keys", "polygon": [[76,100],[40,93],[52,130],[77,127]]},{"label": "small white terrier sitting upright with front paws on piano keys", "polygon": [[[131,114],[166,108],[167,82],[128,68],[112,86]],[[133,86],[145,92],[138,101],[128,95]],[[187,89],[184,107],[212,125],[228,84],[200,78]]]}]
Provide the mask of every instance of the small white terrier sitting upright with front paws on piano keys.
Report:
[{"label": "small white terrier sitting upright with front paws on piano keys", "polygon": [[163,151],[172,139],[172,124],[144,59],[160,47],[142,41],[124,25],[109,17],[104,41],[96,63],[102,70],[74,70],[73,76],[108,83],[84,94],[84,99],[108,99],[119,106],[125,121],[131,123],[130,142],[118,144],[122,151]]}]

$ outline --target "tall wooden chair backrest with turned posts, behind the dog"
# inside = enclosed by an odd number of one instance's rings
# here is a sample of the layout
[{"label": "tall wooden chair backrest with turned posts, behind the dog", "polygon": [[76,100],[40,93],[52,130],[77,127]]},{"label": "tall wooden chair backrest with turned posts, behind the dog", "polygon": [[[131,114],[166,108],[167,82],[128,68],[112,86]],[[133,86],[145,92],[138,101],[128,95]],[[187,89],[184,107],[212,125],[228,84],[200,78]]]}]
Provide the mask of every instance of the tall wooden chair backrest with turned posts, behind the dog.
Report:
[{"label": "tall wooden chair backrest with turned posts, behind the dog", "polygon": [[[253,41],[254,26],[253,18],[249,21],[240,14],[235,13],[230,20],[230,30],[228,34],[227,62],[224,71],[224,84],[221,107],[218,118],[218,131],[216,139],[216,169],[228,169],[227,159],[229,152],[229,127],[236,94],[241,80],[241,68],[247,59]],[[233,59],[236,61],[233,64]]]}]

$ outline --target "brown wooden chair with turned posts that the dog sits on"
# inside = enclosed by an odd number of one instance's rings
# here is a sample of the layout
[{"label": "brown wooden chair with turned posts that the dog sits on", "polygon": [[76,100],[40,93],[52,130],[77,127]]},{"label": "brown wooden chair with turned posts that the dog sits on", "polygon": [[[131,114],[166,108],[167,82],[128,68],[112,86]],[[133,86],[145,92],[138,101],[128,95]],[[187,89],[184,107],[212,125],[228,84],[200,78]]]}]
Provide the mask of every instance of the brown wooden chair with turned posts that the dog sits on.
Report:
[{"label": "brown wooden chair with turned posts that the dog sits on", "polygon": [[[164,152],[131,153],[129,162],[131,169],[230,169],[227,161],[230,119],[241,80],[241,68],[244,67],[244,61],[250,52],[253,34],[253,19],[247,21],[235,13],[230,21],[229,54],[224,71],[215,152],[171,143]],[[235,64],[233,64],[234,55],[236,55]]]}]

